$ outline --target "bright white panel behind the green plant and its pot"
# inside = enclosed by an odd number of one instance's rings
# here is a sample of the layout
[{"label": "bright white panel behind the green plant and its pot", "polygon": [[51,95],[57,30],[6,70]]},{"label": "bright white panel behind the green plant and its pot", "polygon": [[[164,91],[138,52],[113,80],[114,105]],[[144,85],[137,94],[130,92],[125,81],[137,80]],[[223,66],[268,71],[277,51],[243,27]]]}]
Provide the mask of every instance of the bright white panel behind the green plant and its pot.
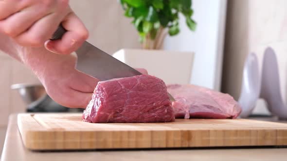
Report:
[{"label": "bright white panel behind the green plant and its pot", "polygon": [[179,35],[167,37],[163,49],[194,51],[191,83],[220,90],[226,0],[193,0],[192,8],[196,32],[187,28],[181,16]]}]

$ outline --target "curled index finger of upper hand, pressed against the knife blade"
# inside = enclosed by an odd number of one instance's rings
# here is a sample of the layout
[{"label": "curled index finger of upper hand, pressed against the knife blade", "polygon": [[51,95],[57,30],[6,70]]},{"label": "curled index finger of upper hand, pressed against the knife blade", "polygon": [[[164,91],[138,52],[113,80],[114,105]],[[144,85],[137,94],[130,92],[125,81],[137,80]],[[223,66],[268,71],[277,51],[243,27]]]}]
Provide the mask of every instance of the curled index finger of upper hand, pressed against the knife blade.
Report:
[{"label": "curled index finger of upper hand, pressed against the knife blade", "polygon": [[62,25],[68,32],[63,35],[61,40],[47,41],[45,47],[54,53],[70,54],[83,44],[89,33],[74,13],[66,16]]}]

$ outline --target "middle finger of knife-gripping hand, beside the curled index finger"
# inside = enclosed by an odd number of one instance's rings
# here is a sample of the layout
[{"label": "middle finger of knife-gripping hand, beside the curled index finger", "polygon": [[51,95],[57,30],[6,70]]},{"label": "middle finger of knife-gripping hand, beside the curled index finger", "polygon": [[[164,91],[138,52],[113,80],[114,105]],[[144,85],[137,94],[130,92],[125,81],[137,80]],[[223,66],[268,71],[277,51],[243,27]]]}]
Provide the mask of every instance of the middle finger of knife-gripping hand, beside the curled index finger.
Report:
[{"label": "middle finger of knife-gripping hand, beside the curled index finger", "polygon": [[52,37],[62,19],[63,16],[58,14],[49,14],[39,19],[27,32],[23,32],[14,39],[22,46],[43,46]]}]

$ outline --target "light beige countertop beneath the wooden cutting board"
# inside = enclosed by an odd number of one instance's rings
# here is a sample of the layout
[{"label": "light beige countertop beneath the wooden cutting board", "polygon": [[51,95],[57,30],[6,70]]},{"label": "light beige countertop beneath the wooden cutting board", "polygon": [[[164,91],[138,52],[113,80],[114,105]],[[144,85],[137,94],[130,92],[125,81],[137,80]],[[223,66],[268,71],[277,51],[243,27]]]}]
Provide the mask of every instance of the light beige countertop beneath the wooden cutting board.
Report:
[{"label": "light beige countertop beneath the wooden cutting board", "polygon": [[34,152],[26,149],[17,127],[17,115],[9,117],[7,134],[1,161],[284,161],[287,148],[192,148],[192,149],[153,149],[153,150],[97,150]]}]

